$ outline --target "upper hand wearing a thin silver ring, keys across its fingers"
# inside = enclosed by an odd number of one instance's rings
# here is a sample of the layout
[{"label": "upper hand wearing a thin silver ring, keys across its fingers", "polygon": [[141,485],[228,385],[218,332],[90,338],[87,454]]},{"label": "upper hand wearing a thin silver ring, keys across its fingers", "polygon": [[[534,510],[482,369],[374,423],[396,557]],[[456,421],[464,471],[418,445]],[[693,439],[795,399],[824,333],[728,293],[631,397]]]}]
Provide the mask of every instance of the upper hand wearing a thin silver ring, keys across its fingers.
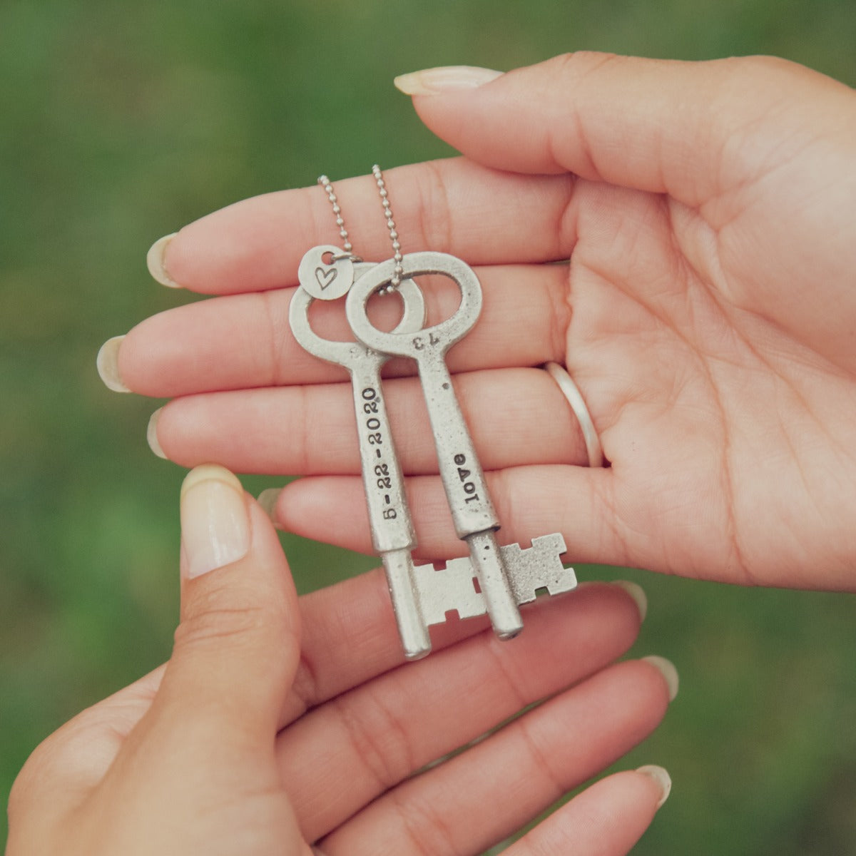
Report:
[{"label": "upper hand wearing a thin silver ring, keys across its fingers", "polygon": [[[450,362],[506,540],[561,531],[583,562],[856,589],[856,94],[764,58],[457,74],[405,86],[433,92],[416,109],[465,158],[386,178],[405,251],[455,253],[484,284]],[[389,256],[371,179],[336,192],[354,247]],[[287,320],[302,253],[330,241],[319,188],[182,229],[158,276],[224,296],[140,324],[111,372],[176,397],[152,424],[163,455],[304,474],[282,526],[368,550],[344,374]],[[567,364],[611,467],[575,466],[545,360]],[[390,373],[419,543],[450,556],[419,384]]]}]

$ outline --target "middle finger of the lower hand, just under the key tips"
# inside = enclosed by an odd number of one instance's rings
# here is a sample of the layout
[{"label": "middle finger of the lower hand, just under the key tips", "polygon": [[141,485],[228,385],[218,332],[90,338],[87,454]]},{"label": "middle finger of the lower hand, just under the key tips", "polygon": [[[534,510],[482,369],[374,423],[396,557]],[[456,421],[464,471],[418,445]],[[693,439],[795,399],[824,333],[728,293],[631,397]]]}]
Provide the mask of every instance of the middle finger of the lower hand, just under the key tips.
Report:
[{"label": "middle finger of the lower hand, just under the key tips", "polygon": [[[633,644],[640,621],[615,586],[544,601],[527,615],[512,643],[485,631],[356,687],[281,734],[282,780],[308,840],[526,704],[603,669]],[[328,757],[336,782],[318,763]]]}]

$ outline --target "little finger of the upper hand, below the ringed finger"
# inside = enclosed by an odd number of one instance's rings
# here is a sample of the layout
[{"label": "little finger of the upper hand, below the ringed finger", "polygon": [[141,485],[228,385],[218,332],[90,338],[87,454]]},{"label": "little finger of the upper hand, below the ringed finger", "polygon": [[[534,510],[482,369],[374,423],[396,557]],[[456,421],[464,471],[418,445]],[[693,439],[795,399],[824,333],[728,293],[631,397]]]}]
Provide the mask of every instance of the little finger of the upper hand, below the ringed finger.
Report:
[{"label": "little finger of the upper hand, below the ringed finger", "polygon": [[[645,532],[622,525],[612,469],[554,464],[513,467],[486,476],[502,522],[502,544],[527,544],[535,535],[562,532],[574,562],[662,568],[658,545]],[[464,555],[467,546],[455,535],[439,477],[413,476],[406,487],[419,543],[416,555],[433,560]],[[277,526],[304,538],[372,552],[366,499],[356,476],[294,481],[276,497],[271,516]],[[627,561],[631,547],[635,562]],[[654,564],[639,562],[640,556]]]}]

